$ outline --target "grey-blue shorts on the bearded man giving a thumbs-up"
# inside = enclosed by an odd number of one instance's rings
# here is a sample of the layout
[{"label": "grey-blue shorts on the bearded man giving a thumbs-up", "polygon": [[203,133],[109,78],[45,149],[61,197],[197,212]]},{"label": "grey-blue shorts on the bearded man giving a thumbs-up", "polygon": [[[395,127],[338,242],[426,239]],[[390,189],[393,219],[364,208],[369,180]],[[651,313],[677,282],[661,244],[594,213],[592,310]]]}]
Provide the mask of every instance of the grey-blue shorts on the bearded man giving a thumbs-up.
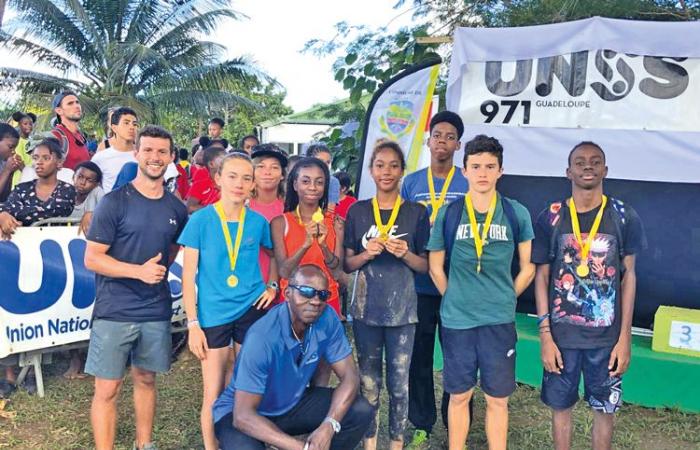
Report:
[{"label": "grey-blue shorts on the bearded man giving a thumbs-up", "polygon": [[170,321],[116,322],[95,319],[90,331],[85,372],[119,380],[127,362],[151,372],[170,370]]}]

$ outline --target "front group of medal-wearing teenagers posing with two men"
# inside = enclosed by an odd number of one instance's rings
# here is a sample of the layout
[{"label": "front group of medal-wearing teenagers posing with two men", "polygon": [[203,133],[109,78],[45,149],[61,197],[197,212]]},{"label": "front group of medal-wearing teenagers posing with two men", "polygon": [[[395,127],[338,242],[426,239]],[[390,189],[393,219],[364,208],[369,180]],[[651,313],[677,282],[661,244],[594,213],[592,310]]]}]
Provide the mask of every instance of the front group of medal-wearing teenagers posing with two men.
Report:
[{"label": "front group of medal-wearing teenagers posing with two men", "polygon": [[[581,142],[568,155],[570,196],[548,205],[533,226],[528,210],[497,190],[499,141],[478,135],[462,145],[463,133],[457,114],[436,114],[430,165],[405,177],[401,147],[378,141],[369,158],[376,194],[340,214],[340,201],[329,201],[338,180],[323,146],[293,167],[269,144],[253,146],[250,156],[205,150],[217,197],[185,205],[164,183],[175,159],[171,135],[142,128],[135,177],[97,204],[86,234],[85,265],[97,287],[85,367],[95,376],[96,448],[114,446],[129,364],[134,448],[155,448],[155,374],[171,363],[167,276],[179,251],[208,450],[350,450],[360,442],[376,449],[382,384],[389,448],[440,448],[431,436],[438,333],[447,446],[466,444],[478,383],[489,448],[505,449],[515,306],[533,281],[554,447],[570,446],[583,375],[593,448],[610,448],[630,362],[641,221],[605,195],[603,149]],[[348,274],[355,355],[340,308]],[[414,432],[405,442],[409,421]]]}]

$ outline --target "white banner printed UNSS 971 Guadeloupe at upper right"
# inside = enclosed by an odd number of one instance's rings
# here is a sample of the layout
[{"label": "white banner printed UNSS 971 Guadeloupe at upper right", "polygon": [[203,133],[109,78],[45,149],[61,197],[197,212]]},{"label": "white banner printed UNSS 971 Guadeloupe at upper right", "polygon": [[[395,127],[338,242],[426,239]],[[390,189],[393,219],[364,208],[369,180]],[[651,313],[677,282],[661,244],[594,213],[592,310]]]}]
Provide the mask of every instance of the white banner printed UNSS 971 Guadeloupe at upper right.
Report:
[{"label": "white banner printed UNSS 971 Guadeloupe at upper right", "polygon": [[463,142],[501,141],[508,175],[563,176],[571,148],[591,140],[609,178],[698,183],[697,42],[698,22],[460,28],[447,108],[464,120]]}]

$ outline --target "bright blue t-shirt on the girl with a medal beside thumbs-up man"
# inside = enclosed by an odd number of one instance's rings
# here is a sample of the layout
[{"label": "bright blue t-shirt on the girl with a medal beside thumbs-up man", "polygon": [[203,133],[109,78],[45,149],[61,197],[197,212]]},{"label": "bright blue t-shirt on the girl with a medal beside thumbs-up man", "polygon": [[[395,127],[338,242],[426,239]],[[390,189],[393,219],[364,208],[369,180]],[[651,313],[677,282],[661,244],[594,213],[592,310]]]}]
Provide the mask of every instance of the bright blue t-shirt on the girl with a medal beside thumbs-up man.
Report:
[{"label": "bright blue t-shirt on the girl with a medal beside thumbs-up man", "polygon": [[[238,222],[228,222],[231,243],[236,239]],[[221,220],[214,205],[192,214],[178,239],[180,245],[199,250],[197,264],[197,319],[202,327],[216,327],[240,318],[265,291],[260,274],[260,247],[272,248],[270,224],[262,215],[246,208],[241,247],[236,262],[238,285],[229,287],[231,263]]]}]

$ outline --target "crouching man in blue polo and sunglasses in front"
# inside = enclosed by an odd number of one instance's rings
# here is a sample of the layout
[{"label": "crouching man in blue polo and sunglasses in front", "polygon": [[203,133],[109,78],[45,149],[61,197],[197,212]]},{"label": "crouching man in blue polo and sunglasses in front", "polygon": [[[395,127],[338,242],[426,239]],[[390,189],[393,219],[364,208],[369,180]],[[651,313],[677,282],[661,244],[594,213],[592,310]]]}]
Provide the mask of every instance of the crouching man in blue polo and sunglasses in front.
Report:
[{"label": "crouching man in blue polo and sunglasses in front", "polygon": [[[338,316],[326,308],[328,280],[316,266],[290,276],[287,302],[246,335],[233,380],[214,404],[223,450],[352,450],[374,411],[358,396],[352,348]],[[340,380],[335,389],[309,386],[319,360]],[[306,440],[296,435],[308,434]]]}]

